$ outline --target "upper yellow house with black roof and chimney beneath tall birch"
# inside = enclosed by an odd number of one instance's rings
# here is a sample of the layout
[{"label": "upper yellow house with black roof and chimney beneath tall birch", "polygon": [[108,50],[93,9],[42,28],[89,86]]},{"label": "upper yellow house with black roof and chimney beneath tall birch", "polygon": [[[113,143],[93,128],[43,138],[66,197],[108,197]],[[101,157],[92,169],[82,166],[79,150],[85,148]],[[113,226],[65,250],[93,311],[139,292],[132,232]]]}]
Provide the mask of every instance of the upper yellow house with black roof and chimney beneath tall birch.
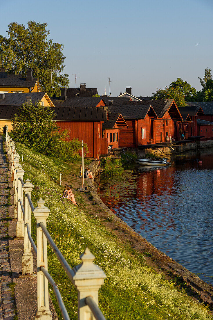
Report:
[{"label": "upper yellow house with black roof and chimney beneath tall birch", "polygon": [[9,75],[5,68],[0,68],[0,94],[42,92],[38,78],[33,77],[33,69],[27,69],[27,76]]}]

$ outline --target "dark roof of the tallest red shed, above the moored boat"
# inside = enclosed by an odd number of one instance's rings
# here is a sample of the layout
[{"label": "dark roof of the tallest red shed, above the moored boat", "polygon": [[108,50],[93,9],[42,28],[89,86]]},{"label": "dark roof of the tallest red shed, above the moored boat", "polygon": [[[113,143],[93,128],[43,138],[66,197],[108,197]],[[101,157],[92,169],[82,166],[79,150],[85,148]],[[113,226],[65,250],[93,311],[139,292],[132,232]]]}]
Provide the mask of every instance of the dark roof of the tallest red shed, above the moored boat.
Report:
[{"label": "dark roof of the tallest red shed, above the moored boat", "polygon": [[171,106],[173,99],[165,99],[165,100],[143,100],[143,101],[130,101],[129,103],[124,102],[123,104],[129,105],[152,105],[155,110],[157,116],[159,118],[163,117],[167,112],[168,108]]}]

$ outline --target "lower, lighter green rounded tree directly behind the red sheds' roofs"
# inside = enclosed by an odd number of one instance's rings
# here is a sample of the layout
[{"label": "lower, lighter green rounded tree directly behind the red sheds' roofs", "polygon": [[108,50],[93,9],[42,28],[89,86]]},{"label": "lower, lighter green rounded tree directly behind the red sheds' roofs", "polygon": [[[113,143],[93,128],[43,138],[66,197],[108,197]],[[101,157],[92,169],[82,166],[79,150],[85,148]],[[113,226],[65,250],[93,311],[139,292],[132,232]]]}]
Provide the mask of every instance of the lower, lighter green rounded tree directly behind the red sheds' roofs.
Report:
[{"label": "lower, lighter green rounded tree directly behind the red sheds' roofs", "polygon": [[178,107],[185,107],[186,101],[182,92],[178,88],[165,87],[164,89],[157,89],[153,94],[153,99],[174,99]]}]

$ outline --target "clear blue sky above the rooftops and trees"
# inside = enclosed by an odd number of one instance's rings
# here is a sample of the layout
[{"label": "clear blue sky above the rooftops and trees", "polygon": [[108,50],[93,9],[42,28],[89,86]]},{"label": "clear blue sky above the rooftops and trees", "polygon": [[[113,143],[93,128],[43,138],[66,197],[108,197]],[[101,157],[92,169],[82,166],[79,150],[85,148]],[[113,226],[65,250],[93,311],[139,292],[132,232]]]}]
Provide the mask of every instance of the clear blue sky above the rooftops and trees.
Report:
[{"label": "clear blue sky above the rooftops and trees", "polygon": [[[50,37],[64,44],[69,87],[104,86],[112,96],[132,86],[151,95],[177,77],[200,90],[198,77],[213,69],[211,0],[7,0],[1,2],[0,34],[12,21],[47,22]],[[198,45],[195,45],[198,43]]]}]

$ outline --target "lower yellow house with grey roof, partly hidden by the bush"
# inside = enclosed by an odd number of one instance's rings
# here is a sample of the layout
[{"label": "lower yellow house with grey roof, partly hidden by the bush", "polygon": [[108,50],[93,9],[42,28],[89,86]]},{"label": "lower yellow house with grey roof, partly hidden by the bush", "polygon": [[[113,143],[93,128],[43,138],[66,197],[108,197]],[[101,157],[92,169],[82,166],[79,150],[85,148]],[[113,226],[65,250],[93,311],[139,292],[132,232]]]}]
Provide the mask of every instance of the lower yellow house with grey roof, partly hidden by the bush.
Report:
[{"label": "lower yellow house with grey roof, partly hidden by the bush", "polygon": [[13,129],[11,118],[19,113],[18,109],[22,103],[25,103],[25,101],[30,102],[30,100],[33,103],[40,100],[44,107],[49,107],[50,104],[54,107],[54,104],[45,92],[0,93],[0,132],[5,124],[8,126],[8,131]]}]

